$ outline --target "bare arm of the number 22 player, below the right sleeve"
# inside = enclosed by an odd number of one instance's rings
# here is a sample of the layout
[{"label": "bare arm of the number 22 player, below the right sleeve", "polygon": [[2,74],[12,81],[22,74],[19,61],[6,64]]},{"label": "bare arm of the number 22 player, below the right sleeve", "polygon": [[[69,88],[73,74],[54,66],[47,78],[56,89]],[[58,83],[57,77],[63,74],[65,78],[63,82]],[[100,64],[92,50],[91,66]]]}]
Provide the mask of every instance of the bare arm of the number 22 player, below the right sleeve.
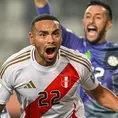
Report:
[{"label": "bare arm of the number 22 player, below the right sleeve", "polygon": [[87,90],[87,93],[102,106],[118,112],[118,97],[109,89],[99,84],[95,89]]}]

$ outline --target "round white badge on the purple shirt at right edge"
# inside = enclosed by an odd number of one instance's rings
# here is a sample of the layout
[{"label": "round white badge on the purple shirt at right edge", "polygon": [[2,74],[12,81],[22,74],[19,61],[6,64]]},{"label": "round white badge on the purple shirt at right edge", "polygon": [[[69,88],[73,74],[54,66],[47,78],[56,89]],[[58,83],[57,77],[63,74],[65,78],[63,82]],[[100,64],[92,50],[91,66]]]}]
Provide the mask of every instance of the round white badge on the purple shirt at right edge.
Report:
[{"label": "round white badge on the purple shirt at right edge", "polygon": [[108,59],[107,59],[107,63],[112,67],[118,66],[118,57],[109,56]]}]

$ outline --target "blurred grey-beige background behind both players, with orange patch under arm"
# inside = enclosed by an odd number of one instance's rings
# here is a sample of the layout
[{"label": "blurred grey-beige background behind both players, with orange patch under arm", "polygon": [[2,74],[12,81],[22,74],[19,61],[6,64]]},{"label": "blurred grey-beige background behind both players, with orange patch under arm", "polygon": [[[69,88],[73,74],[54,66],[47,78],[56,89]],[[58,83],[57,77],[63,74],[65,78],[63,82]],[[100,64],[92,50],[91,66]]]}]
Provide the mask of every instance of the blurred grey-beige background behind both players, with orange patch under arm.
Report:
[{"label": "blurred grey-beige background behind both players, with orange patch under arm", "polygon": [[[82,18],[89,0],[50,0],[55,16],[78,36],[84,36]],[[113,11],[113,27],[107,39],[118,43],[118,0],[105,0]],[[0,66],[13,53],[29,45],[30,22],[36,16],[33,0],[0,0]],[[13,96],[12,96],[13,97]],[[11,97],[11,98],[12,98]],[[16,99],[16,98],[12,98]],[[8,109],[12,118],[19,118],[15,100]]]}]

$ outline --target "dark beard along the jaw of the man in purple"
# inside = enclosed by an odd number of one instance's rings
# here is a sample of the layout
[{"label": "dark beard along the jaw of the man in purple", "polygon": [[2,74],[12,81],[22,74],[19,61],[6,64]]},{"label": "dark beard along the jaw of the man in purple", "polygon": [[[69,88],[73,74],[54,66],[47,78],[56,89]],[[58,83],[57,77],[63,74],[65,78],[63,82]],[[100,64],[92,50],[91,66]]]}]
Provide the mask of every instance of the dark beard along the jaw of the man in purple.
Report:
[{"label": "dark beard along the jaw of the man in purple", "polygon": [[95,45],[95,44],[98,44],[101,40],[102,40],[102,37],[104,37],[104,35],[105,35],[105,33],[106,33],[106,25],[103,27],[103,29],[98,33],[98,37],[95,39],[95,40],[89,40],[89,39],[87,39],[87,35],[86,35],[86,33],[85,33],[85,38],[86,38],[86,40],[90,43],[90,44],[93,44],[93,45]]}]

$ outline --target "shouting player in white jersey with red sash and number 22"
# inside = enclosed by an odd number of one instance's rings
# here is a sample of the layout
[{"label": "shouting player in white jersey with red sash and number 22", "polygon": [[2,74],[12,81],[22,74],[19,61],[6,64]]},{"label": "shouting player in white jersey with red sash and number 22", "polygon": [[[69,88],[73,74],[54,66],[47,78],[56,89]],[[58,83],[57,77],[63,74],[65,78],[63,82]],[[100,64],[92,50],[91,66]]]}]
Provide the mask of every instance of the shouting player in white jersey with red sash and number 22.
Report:
[{"label": "shouting player in white jersey with red sash and number 22", "polygon": [[36,16],[29,39],[30,46],[2,65],[0,112],[15,91],[21,118],[84,118],[78,85],[99,104],[118,112],[118,97],[95,79],[88,58],[61,46],[62,30],[56,17]]}]

